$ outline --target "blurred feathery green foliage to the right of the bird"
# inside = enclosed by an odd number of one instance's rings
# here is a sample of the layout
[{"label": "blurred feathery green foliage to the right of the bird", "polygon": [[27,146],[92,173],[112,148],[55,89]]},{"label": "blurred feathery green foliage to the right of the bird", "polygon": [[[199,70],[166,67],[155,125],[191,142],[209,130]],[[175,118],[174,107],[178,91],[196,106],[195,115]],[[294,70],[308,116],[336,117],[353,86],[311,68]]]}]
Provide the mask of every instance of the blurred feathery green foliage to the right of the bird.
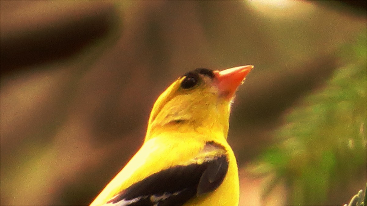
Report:
[{"label": "blurred feathery green foliage to the right of the bird", "polygon": [[[367,47],[365,31],[338,55],[344,66],[326,85],[302,99],[276,135],[278,144],[261,157],[256,173],[275,174],[264,195],[280,179],[287,204],[325,204],[330,188],[342,188],[366,169]],[[361,177],[363,179],[363,177]]]}]

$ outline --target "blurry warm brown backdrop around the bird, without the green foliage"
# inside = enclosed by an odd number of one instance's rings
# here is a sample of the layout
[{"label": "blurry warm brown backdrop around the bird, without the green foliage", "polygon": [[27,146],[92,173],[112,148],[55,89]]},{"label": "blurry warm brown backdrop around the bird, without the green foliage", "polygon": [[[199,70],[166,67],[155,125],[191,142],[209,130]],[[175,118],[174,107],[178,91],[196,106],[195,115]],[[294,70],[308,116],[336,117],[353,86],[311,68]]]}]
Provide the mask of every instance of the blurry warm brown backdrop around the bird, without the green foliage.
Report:
[{"label": "blurry warm brown backdrop around the bird, without the green foliage", "polygon": [[[284,111],[323,86],[340,64],[334,51],[366,29],[358,7],[273,2],[0,1],[0,204],[90,203],[138,150],[175,78],[248,64],[229,142],[240,205],[258,204],[260,180],[244,166],[273,144]],[[285,194],[280,186],[268,203]]]}]

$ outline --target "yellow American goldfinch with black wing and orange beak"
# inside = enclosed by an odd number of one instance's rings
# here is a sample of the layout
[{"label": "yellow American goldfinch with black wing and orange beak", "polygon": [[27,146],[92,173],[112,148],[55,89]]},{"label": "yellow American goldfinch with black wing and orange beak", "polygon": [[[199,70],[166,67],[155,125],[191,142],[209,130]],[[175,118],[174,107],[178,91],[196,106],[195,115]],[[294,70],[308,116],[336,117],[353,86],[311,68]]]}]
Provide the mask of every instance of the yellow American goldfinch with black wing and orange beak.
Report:
[{"label": "yellow American goldfinch with black wing and orange beak", "polygon": [[200,68],[173,82],[153,106],[142,147],[91,206],[238,205],[226,139],[232,99],[252,68]]}]

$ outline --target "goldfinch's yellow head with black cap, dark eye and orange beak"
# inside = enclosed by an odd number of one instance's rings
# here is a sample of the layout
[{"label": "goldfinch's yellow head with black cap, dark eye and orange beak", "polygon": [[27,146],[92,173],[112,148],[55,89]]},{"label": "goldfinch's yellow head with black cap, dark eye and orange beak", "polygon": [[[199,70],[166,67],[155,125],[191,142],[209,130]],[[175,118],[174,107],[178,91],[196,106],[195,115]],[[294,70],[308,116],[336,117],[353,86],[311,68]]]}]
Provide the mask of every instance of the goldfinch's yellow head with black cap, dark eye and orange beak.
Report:
[{"label": "goldfinch's yellow head with black cap, dark eye and orange beak", "polygon": [[160,132],[207,132],[227,137],[229,113],[237,87],[253,66],[222,71],[196,69],[173,82],[155,102],[146,139]]}]

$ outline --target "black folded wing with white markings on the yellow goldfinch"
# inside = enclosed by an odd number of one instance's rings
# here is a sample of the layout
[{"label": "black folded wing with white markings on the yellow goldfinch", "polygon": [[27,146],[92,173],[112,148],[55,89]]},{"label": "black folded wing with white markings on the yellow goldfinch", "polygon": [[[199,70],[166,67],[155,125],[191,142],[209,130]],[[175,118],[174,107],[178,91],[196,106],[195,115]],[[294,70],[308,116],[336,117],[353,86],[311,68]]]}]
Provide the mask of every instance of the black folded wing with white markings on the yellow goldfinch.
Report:
[{"label": "black folded wing with white markings on the yellow goldfinch", "polygon": [[119,206],[183,205],[194,196],[215,190],[228,170],[220,155],[201,164],[174,166],[131,185],[107,202]]}]

